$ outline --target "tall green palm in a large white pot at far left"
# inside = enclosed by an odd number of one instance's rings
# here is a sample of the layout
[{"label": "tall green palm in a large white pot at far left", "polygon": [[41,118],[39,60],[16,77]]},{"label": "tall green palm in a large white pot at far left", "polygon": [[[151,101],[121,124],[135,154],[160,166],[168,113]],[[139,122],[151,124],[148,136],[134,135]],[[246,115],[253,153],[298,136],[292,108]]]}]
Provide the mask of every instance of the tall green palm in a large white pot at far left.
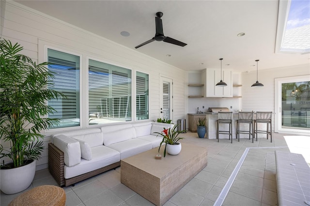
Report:
[{"label": "tall green palm in a large white pot at far left", "polygon": [[30,186],[44,149],[40,132],[58,123],[44,118],[54,112],[47,101],[64,97],[50,89],[53,74],[48,63],[37,64],[18,54],[22,49],[20,44],[0,40],[0,187],[6,194]]}]

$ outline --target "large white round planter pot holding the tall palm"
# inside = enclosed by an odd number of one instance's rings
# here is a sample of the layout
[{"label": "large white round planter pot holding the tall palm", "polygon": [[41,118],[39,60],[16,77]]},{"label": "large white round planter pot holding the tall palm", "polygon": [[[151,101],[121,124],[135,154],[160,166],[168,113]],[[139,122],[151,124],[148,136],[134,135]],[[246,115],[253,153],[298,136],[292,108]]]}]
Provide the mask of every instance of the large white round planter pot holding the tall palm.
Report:
[{"label": "large white round planter pot holding the tall palm", "polygon": [[13,169],[1,169],[1,191],[5,194],[15,194],[26,190],[35,175],[35,160],[30,164]]}]

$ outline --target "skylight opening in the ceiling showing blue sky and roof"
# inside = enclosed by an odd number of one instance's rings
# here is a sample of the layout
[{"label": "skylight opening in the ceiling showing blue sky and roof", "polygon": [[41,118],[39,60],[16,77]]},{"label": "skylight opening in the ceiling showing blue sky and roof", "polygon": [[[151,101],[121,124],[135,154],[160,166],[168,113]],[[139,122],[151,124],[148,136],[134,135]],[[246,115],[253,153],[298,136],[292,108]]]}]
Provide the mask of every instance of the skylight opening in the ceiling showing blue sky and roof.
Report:
[{"label": "skylight opening in the ceiling showing blue sky and roof", "polygon": [[[282,28],[279,28],[281,25]],[[281,42],[278,48],[279,52],[301,54],[309,53],[310,1],[279,1],[279,19],[277,32],[282,33],[280,39],[280,34],[277,33],[277,42]]]}]

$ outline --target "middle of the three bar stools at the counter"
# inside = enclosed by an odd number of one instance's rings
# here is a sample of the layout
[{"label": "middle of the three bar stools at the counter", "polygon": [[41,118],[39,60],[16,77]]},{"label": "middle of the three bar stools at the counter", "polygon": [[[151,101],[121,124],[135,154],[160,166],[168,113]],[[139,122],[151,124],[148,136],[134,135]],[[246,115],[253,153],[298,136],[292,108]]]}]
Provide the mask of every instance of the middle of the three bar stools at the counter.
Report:
[{"label": "middle of the three bar stools at the counter", "polygon": [[[251,139],[252,135],[252,142],[254,139],[254,112],[238,112],[238,119],[237,119],[237,128],[236,128],[236,138],[238,137],[238,142],[240,142],[240,134],[248,134],[248,139]],[[240,130],[240,124],[248,124],[249,128],[248,131]],[[252,130],[251,130],[252,127]]]}]

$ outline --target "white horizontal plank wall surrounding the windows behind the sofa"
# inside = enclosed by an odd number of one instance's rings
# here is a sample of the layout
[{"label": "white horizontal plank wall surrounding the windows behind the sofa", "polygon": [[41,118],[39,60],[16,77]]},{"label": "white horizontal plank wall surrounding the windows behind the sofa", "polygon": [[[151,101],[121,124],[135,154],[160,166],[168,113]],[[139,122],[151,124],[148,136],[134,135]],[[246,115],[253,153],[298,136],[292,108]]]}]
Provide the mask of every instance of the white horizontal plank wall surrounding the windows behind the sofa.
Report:
[{"label": "white horizontal plank wall surrounding the windows behind the sofa", "polygon": [[[100,59],[108,63],[124,66],[135,71],[149,74],[150,79],[150,119],[159,117],[159,76],[173,79],[173,120],[184,118],[185,114],[185,76],[186,73],[176,67],[143,55],[132,48],[111,42],[86,30],[79,29],[53,17],[47,16],[14,1],[1,1],[1,37],[24,47],[23,54],[40,62],[46,61],[44,46],[54,46],[65,51],[82,55],[82,85],[87,85],[86,57]],[[133,79],[134,83],[134,79]],[[135,87],[134,87],[135,88]],[[81,96],[87,95],[82,88]],[[135,92],[133,93],[135,94]],[[86,98],[81,117],[88,117]],[[133,118],[134,119],[134,118]],[[86,128],[87,118],[81,122]],[[46,132],[48,136],[50,132]],[[46,138],[46,146],[49,138]],[[47,167],[47,149],[37,163],[37,169]]]}]

